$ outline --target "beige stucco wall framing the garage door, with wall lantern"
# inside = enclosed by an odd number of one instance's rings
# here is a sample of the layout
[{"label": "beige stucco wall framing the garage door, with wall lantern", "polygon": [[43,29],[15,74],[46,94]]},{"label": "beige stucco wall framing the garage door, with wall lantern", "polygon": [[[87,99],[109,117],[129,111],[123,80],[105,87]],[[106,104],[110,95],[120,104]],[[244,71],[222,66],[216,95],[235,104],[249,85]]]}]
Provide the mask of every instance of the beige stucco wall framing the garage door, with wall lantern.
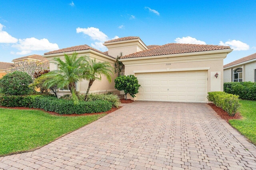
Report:
[{"label": "beige stucco wall framing the garage door, with wall lantern", "polygon": [[[170,72],[205,70],[207,72],[207,92],[223,91],[223,59],[232,50],[216,50],[195,53],[137,57],[121,59],[125,65],[125,75],[140,72]],[[214,76],[218,72],[216,79]],[[211,81],[212,80],[212,81]],[[212,87],[211,87],[212,86]],[[131,96],[128,98],[134,100]]]}]

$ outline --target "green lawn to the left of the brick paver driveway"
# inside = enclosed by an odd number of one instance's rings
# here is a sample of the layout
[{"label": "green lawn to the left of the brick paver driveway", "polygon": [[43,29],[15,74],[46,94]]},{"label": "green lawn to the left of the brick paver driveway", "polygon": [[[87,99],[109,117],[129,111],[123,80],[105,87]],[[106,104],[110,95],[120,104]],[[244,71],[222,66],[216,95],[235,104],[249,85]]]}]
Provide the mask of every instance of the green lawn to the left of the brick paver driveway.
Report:
[{"label": "green lawn to the left of the brick paver driveway", "polygon": [[0,156],[46,145],[104,115],[64,117],[39,110],[0,108]]}]

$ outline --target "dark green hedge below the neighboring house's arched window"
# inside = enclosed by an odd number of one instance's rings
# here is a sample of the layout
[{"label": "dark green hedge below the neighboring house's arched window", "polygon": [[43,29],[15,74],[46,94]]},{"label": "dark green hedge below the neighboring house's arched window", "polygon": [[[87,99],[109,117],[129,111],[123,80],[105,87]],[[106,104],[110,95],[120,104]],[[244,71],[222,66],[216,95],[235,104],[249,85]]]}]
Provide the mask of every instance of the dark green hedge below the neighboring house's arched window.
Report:
[{"label": "dark green hedge below the neighboring house's arched window", "polygon": [[256,100],[256,82],[227,82],[224,92],[239,95],[240,99]]}]

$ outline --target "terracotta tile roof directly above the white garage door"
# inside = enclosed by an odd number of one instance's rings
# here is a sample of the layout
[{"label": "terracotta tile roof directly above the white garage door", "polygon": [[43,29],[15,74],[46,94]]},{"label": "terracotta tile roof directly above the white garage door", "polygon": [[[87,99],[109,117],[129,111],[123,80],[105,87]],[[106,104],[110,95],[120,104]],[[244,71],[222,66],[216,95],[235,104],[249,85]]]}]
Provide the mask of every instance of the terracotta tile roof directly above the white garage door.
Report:
[{"label": "terracotta tile roof directly above the white garage door", "polygon": [[137,53],[132,53],[130,55],[121,57],[121,59],[168,55],[168,54],[179,54],[179,53],[192,53],[192,52],[199,52],[199,51],[212,51],[212,50],[221,50],[221,49],[230,49],[230,47],[220,46],[220,45],[170,43],[170,44],[161,45],[159,47],[154,47],[148,50],[140,51]]}]

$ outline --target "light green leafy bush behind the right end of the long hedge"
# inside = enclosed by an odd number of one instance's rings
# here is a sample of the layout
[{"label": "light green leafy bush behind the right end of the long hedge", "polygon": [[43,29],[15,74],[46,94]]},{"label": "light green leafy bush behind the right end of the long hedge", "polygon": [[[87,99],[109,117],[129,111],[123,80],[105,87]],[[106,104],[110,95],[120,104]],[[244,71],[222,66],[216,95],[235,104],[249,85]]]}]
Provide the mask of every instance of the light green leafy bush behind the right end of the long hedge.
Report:
[{"label": "light green leafy bush behind the right end of the long hedge", "polygon": [[87,101],[95,101],[95,100],[106,100],[112,103],[113,107],[118,108],[121,104],[119,96],[116,94],[89,94],[87,97]]}]

